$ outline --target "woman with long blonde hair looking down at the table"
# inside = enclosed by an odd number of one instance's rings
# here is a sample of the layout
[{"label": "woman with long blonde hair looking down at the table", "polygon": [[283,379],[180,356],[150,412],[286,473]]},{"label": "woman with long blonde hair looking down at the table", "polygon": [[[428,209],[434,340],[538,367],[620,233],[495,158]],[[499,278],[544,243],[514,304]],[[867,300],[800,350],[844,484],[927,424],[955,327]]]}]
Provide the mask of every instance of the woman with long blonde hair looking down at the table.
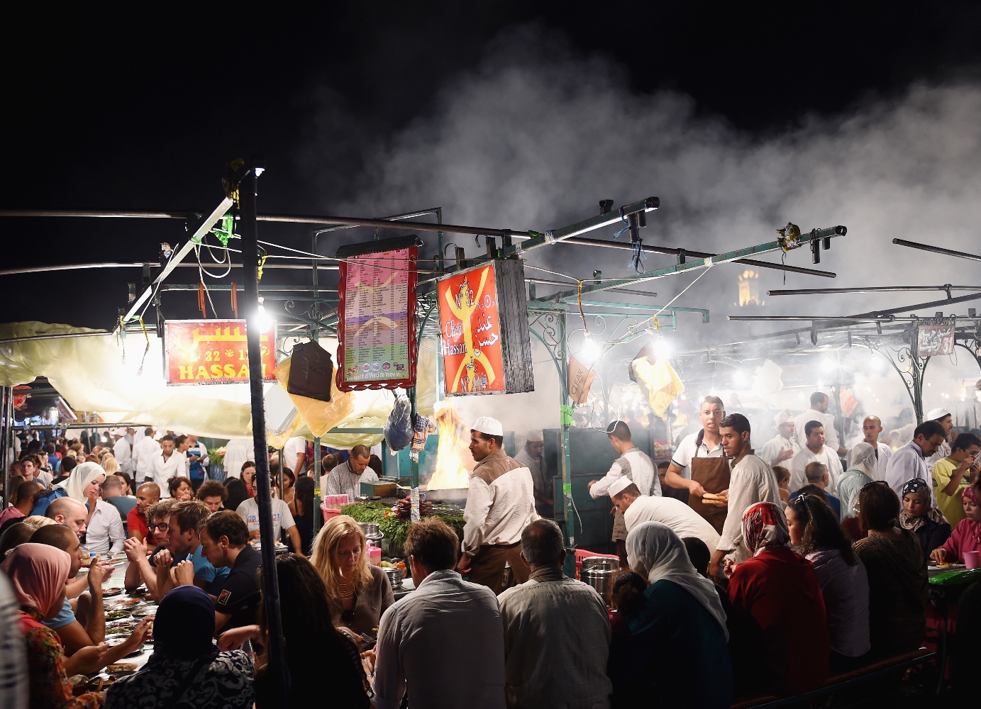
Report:
[{"label": "woman with long blonde hair looking down at the table", "polygon": [[334,625],[355,633],[375,633],[382,614],[395,601],[385,572],[368,563],[366,546],[354,518],[338,515],[317,534],[310,559],[327,586]]}]

